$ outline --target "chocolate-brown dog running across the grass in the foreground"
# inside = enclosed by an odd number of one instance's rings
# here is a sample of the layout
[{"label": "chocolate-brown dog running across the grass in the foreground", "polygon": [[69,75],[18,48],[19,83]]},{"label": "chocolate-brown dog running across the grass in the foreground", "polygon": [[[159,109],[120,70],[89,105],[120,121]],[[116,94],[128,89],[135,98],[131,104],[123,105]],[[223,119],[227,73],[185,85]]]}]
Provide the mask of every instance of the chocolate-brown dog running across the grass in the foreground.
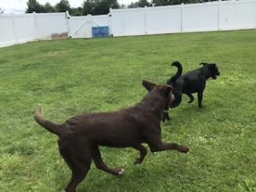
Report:
[{"label": "chocolate-brown dog running across the grass in the foreground", "polygon": [[72,178],[67,184],[67,192],[75,192],[78,184],[90,169],[91,160],[96,167],[113,175],[123,174],[123,169],[113,169],[102,161],[99,145],[140,151],[134,164],[143,162],[147,143],[151,152],[175,149],[187,153],[189,148],[177,143],[162,143],[160,120],[164,108],[172,102],[172,86],[156,85],[143,81],[149,90],[142,102],[136,106],[111,113],[91,113],[75,116],[61,125],[41,117],[38,105],[34,119],[48,131],[59,136],[59,150],[72,171]]}]

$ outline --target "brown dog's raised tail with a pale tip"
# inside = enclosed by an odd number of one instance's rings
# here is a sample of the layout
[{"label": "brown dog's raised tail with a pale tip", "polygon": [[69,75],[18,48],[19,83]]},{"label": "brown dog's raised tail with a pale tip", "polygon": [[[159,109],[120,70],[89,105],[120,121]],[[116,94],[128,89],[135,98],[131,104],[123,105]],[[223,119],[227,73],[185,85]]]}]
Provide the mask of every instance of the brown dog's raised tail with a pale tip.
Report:
[{"label": "brown dog's raised tail with a pale tip", "polygon": [[54,133],[55,135],[61,137],[62,131],[63,131],[61,129],[61,125],[52,123],[49,120],[44,119],[41,116],[41,105],[40,104],[38,104],[38,108],[36,109],[36,111],[34,113],[34,119],[35,119],[35,121],[38,122],[39,125],[43,126],[45,129]]}]

